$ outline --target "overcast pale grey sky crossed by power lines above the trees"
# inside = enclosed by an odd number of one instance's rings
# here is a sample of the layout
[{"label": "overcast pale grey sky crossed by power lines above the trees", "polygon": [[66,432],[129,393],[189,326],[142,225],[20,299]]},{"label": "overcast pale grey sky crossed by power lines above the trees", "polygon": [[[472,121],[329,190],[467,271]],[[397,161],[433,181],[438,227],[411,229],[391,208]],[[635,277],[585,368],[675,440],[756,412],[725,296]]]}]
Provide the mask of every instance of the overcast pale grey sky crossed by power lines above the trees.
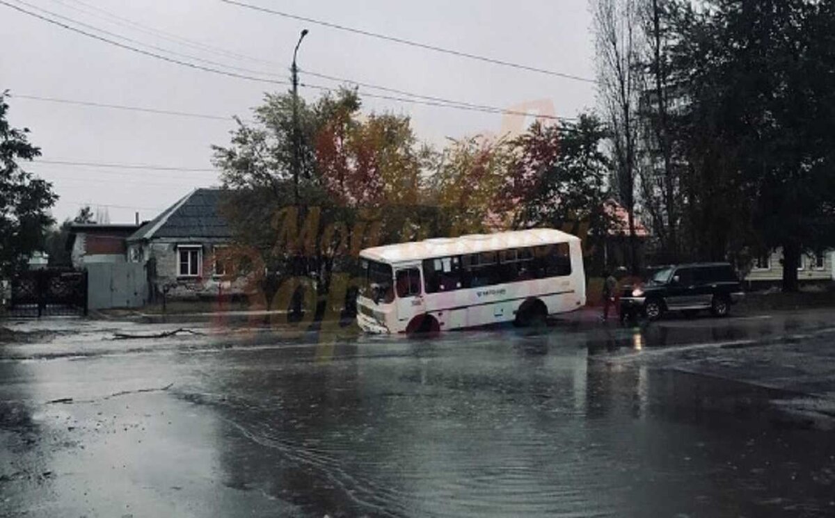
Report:
[{"label": "overcast pale grey sky crossed by power lines above the trees", "polygon": [[[583,78],[594,76],[586,0],[241,1],[464,53]],[[501,108],[533,103],[539,107],[534,109],[553,109],[555,114],[566,116],[595,103],[595,89],[590,83],[404,46],[258,13],[220,0],[3,2],[151,53],[259,77],[288,78],[293,47],[301,29],[307,28],[310,34],[302,43],[299,66],[312,72]],[[238,114],[245,118],[250,108],[260,103],[263,93],[286,89],[167,63],[70,32],[2,3],[0,23],[0,88],[8,88],[13,96],[223,117]],[[241,68],[252,72],[243,72]],[[301,81],[333,87],[339,84],[310,77],[303,71]],[[360,91],[397,95],[367,88]],[[312,100],[319,92],[301,88],[301,95]],[[26,98],[10,98],[8,103],[11,123],[30,128],[32,142],[43,149],[42,159],[52,161],[211,168],[210,144],[228,143],[233,127],[231,120]],[[443,145],[447,137],[501,133],[503,128],[509,130],[522,124],[519,118],[501,114],[385,99],[363,98],[363,104],[365,111],[410,115],[418,138],[438,145]],[[113,223],[132,221],[134,211],[139,211],[141,219],[151,219],[191,189],[218,184],[217,174],[210,171],[54,163],[28,168],[54,183],[61,196],[53,209],[59,220],[73,216],[79,204],[108,206]]]}]

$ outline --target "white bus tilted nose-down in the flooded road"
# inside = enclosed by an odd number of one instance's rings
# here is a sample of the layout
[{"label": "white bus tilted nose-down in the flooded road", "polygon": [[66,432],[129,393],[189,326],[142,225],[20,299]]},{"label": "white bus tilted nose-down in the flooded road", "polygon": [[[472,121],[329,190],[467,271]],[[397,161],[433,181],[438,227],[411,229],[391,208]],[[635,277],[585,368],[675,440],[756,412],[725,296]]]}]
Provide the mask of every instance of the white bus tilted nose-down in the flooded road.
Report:
[{"label": "white bus tilted nose-down in the flooded road", "polygon": [[585,304],[580,241],[554,229],[364,249],[360,266],[357,323],[372,333],[541,324]]}]

